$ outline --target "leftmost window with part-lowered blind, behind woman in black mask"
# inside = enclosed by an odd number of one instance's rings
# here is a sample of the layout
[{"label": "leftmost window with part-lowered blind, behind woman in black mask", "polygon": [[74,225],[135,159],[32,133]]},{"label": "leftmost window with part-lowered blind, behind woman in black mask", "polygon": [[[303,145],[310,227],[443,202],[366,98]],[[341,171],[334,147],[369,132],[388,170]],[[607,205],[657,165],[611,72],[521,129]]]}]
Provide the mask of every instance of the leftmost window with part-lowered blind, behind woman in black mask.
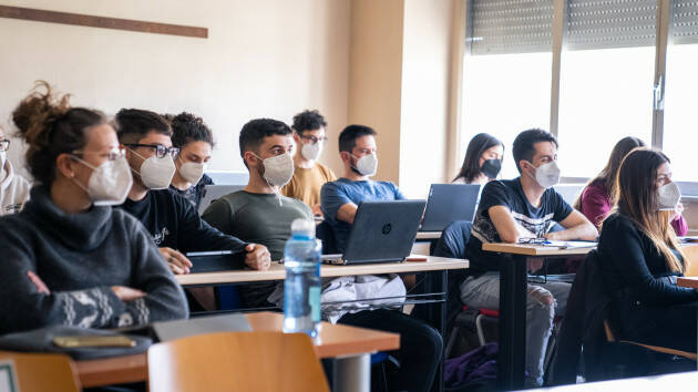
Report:
[{"label": "leftmost window with part-lowered blind, behind woman in black mask", "polygon": [[470,8],[460,156],[472,136],[489,133],[505,145],[502,175],[514,177],[514,137],[550,124],[553,2],[474,0]]}]

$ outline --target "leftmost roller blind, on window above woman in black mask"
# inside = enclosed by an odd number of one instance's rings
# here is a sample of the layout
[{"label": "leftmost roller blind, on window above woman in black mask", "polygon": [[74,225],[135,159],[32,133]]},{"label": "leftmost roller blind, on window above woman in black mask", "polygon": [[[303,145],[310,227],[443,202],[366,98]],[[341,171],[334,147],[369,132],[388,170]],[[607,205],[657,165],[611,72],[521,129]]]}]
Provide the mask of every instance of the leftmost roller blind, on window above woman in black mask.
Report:
[{"label": "leftmost roller blind, on window above woman in black mask", "polygon": [[471,54],[550,52],[552,0],[471,0]]}]

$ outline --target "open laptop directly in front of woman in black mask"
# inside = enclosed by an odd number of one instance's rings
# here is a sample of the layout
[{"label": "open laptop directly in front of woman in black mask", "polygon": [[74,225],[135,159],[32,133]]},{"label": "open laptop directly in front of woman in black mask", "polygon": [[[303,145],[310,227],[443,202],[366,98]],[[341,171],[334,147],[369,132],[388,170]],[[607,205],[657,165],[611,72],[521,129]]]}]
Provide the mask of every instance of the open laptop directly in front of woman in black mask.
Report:
[{"label": "open laptop directly in front of woman in black mask", "polygon": [[443,231],[452,221],[473,221],[480,187],[474,184],[431,184],[424,220],[419,230]]}]

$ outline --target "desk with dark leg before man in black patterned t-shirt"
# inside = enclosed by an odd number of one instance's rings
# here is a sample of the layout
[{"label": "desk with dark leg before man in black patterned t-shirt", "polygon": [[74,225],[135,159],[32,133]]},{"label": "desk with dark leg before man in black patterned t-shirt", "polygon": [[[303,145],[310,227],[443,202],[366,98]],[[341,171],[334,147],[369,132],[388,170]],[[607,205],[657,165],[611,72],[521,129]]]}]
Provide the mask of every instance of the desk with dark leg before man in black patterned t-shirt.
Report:
[{"label": "desk with dark leg before man in black patterned t-shirt", "polygon": [[581,256],[594,247],[560,249],[523,244],[483,244],[482,250],[510,257],[500,261],[500,351],[497,386],[521,390],[524,386],[526,357],[526,258]]}]

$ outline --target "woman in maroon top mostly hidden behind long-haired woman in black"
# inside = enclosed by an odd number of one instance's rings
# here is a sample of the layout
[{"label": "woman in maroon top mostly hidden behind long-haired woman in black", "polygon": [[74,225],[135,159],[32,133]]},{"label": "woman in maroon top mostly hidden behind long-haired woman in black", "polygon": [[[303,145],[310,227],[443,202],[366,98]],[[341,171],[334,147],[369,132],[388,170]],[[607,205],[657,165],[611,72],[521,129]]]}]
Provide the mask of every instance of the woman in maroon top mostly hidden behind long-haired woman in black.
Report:
[{"label": "woman in maroon top mostly hidden behind long-haired woman in black", "polygon": [[[645,143],[634,136],[627,136],[618,141],[610,152],[610,157],[606,167],[592,179],[575,202],[574,208],[579,210],[596,227],[601,227],[604,218],[610,213],[613,207],[613,195],[616,194],[616,175],[620,168],[623,159],[634,148],[644,147]],[[688,225],[681,216],[684,206],[677,205],[676,214],[671,218],[671,227],[677,236],[685,236],[688,233]]]}]

